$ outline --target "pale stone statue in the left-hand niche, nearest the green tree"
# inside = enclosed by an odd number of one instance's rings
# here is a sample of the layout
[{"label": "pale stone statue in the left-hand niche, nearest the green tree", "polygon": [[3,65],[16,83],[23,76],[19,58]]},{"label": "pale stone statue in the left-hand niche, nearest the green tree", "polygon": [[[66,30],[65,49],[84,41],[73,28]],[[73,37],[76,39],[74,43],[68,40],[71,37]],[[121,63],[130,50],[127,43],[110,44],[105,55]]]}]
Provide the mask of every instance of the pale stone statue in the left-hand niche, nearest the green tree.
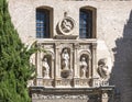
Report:
[{"label": "pale stone statue in the left-hand niche, nearest the green tree", "polygon": [[47,58],[44,58],[42,66],[44,68],[44,78],[50,78],[50,66],[47,63]]}]

